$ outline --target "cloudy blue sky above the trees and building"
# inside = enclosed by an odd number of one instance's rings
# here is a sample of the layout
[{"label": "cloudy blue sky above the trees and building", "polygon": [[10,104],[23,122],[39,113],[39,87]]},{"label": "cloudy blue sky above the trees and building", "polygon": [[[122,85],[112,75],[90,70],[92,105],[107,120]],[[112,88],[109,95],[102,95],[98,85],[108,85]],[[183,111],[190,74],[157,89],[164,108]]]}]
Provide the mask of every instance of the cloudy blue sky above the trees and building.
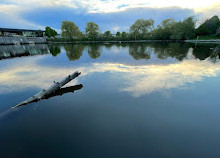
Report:
[{"label": "cloudy blue sky above the trees and building", "polygon": [[220,0],[0,0],[0,27],[42,29],[60,33],[63,20],[74,22],[83,32],[87,22],[100,31],[129,31],[137,19],[167,18],[177,21],[195,16],[197,24],[220,17]]}]

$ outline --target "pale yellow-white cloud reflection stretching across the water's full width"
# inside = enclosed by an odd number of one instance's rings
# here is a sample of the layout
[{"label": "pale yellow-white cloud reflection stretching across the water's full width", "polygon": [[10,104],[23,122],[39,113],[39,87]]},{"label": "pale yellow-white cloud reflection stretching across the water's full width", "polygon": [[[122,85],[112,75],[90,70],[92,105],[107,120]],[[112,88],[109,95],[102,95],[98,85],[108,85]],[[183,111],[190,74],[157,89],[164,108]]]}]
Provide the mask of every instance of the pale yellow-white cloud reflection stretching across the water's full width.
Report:
[{"label": "pale yellow-white cloud reflection stretching across the water's full width", "polygon": [[[122,81],[123,84],[118,87],[118,90],[140,97],[171,88],[183,88],[187,83],[202,81],[205,77],[215,77],[220,71],[219,63],[214,64],[209,58],[203,61],[195,59],[192,50],[189,50],[187,58],[183,61],[165,65],[133,66],[108,62],[54,68],[38,64],[38,61],[44,57],[26,58],[22,63],[0,69],[0,93],[27,88],[46,88],[53,80],[59,81],[74,71],[80,71],[84,77],[93,73],[111,72],[112,76],[120,73],[122,76],[120,82]],[[75,84],[78,84],[78,79],[67,86]]]}]

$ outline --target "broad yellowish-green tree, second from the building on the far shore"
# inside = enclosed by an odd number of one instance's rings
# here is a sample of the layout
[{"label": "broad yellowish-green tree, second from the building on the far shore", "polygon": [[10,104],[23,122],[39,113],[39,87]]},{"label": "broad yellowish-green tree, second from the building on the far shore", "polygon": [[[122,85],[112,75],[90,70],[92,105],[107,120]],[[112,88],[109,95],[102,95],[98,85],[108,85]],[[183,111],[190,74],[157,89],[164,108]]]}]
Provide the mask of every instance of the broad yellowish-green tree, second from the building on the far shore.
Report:
[{"label": "broad yellowish-green tree, second from the building on the far shore", "polygon": [[78,26],[66,20],[62,21],[61,31],[61,36],[65,38],[79,38],[82,35]]}]

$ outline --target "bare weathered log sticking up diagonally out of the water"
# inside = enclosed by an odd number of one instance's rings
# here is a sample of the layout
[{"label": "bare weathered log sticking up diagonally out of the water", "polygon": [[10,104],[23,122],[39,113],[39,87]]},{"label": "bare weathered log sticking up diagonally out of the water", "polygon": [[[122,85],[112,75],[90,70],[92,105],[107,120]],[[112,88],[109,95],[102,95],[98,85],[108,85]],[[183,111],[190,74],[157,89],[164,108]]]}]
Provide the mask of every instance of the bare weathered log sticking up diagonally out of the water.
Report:
[{"label": "bare weathered log sticking up diagonally out of the water", "polygon": [[70,82],[71,80],[73,80],[74,78],[78,77],[81,73],[80,72],[74,72],[73,74],[66,76],[63,80],[61,80],[60,82],[55,82],[48,88],[48,89],[43,89],[42,91],[40,91],[39,93],[37,93],[36,95],[32,96],[31,98],[19,103],[18,105],[11,107],[12,109],[15,109],[19,106],[22,105],[26,105],[32,102],[36,102],[39,101],[41,99],[46,99],[46,97],[52,95],[52,93],[55,93],[56,91],[59,92],[59,90],[61,90],[61,87],[63,87],[64,85],[66,85],[68,82]]}]

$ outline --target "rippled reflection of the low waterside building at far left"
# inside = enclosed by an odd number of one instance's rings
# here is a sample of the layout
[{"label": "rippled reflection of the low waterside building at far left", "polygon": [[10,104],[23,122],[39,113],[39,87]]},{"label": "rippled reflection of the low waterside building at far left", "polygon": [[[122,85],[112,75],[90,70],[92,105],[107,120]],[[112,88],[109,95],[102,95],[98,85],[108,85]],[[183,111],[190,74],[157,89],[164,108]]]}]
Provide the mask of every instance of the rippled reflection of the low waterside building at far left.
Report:
[{"label": "rippled reflection of the low waterside building at far left", "polygon": [[36,45],[0,45],[0,60],[20,56],[50,53],[46,44]]}]

